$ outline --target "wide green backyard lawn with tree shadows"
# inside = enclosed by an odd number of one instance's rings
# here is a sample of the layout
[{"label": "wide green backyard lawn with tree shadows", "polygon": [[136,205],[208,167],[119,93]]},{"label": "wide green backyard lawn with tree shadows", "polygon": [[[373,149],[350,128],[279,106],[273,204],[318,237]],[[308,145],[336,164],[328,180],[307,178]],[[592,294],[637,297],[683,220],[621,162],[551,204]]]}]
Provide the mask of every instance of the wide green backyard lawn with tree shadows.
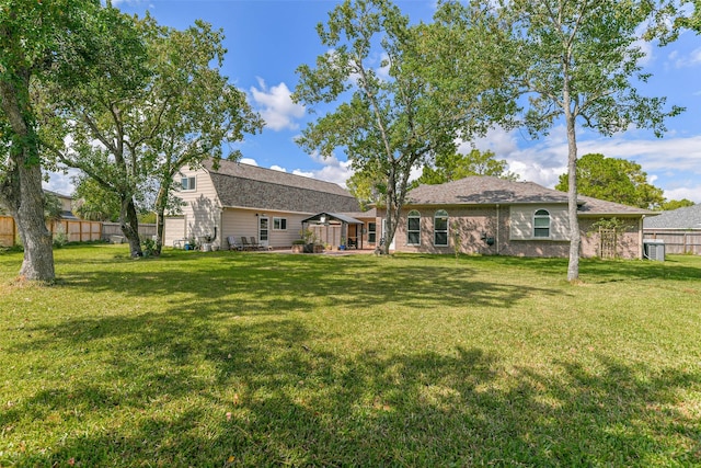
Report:
[{"label": "wide green backyard lawn with tree shadows", "polygon": [[701,258],[0,253],[0,466],[701,466]]}]

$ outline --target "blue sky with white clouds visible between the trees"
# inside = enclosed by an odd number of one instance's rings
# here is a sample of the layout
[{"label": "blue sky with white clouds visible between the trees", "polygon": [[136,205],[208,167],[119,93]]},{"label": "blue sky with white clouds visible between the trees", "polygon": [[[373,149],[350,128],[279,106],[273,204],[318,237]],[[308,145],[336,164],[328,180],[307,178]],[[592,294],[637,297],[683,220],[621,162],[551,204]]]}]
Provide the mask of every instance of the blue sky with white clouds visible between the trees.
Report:
[{"label": "blue sky with white clouds visible between the trees", "polygon": [[[428,21],[435,9],[435,0],[395,3],[412,21]],[[298,81],[296,68],[312,65],[318,55],[326,52],[315,25],[325,22],[337,1],[113,0],[113,4],[139,15],[148,10],[159,23],[177,28],[187,27],[196,19],[222,28],[228,49],[222,72],[248,93],[250,103],[266,121],[262,134],[246,136],[237,145],[242,161],[345,184],[350,172],[342,150],[323,160],[295,144],[295,137],[311,117],[289,98]],[[640,129],[613,137],[579,129],[579,155],[600,152],[635,161],[667,198],[701,203],[701,36],[687,32],[670,46],[645,44],[644,50],[645,71],[652,72],[653,78],[639,91],[643,95],[667,96],[669,104],[686,106],[687,111],[667,122],[668,133],[660,139]],[[524,130],[495,129],[474,144],[505,159],[521,180],[548,187],[554,186],[566,169],[563,126],[539,139],[531,139]],[[65,194],[72,192],[69,176],[55,174],[47,186]]]}]

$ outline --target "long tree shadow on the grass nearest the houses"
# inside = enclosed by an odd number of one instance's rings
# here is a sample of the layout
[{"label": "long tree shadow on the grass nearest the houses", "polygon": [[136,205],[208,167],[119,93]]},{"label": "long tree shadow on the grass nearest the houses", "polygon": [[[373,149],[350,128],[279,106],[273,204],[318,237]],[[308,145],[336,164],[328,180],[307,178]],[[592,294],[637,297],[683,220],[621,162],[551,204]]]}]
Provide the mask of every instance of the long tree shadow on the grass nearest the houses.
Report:
[{"label": "long tree shadow on the grass nearest the houses", "polygon": [[[341,261],[340,261],[341,260]],[[345,260],[345,261],[344,261]],[[558,288],[519,284],[508,278],[485,281],[470,267],[415,261],[386,264],[375,259],[301,255],[231,255],[206,266],[170,262],[158,269],[131,265],[87,267],[62,275],[60,288],[89,288],[95,295],[116,293],[135,300],[179,301],[169,308],[219,309],[226,313],[283,313],[320,304],[329,307],[510,308],[522,298],[562,295]],[[138,299],[137,299],[138,298]]]}]

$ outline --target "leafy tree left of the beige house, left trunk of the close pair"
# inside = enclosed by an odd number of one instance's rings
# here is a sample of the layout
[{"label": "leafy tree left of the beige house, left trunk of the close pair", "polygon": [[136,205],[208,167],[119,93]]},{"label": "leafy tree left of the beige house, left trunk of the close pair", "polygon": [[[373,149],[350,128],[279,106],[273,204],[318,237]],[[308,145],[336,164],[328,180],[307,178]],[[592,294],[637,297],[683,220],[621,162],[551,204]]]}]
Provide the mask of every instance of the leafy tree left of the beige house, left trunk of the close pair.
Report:
[{"label": "leafy tree left of the beige house, left trunk of the close pair", "polygon": [[[153,22],[139,22],[111,7],[97,14],[102,28],[87,42],[96,56],[93,72],[80,85],[59,83],[45,90],[59,100],[44,116],[41,136],[60,163],[80,169],[118,197],[122,230],[136,256],[141,247],[135,196],[148,186],[138,157],[160,117],[149,88],[153,72],[146,47]],[[156,110],[156,115],[137,106],[146,94],[151,96],[148,111]],[[65,134],[71,138],[62,138]]]}]

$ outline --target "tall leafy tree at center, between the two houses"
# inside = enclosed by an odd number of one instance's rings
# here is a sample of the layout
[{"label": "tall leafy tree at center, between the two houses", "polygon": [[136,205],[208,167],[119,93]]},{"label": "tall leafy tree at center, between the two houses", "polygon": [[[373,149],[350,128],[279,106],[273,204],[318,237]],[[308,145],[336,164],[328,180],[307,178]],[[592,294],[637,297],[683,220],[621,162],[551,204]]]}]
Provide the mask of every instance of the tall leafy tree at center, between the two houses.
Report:
[{"label": "tall leafy tree at center, between the two houses", "polygon": [[[345,150],[353,169],[365,173],[370,185],[377,185],[381,174],[387,253],[411,170],[435,155],[453,152],[458,137],[483,129],[486,116],[478,111],[475,96],[491,76],[464,67],[460,89],[470,99],[456,101],[453,88],[437,84],[443,64],[435,59],[436,46],[448,44],[437,36],[445,38],[449,31],[412,27],[387,0],[346,0],[318,32],[331,50],[317,58],[315,68],[297,69],[300,82],[294,98],[312,112],[319,104],[336,107],[311,123],[298,144],[323,157]],[[381,62],[377,57],[383,57]]]}]

